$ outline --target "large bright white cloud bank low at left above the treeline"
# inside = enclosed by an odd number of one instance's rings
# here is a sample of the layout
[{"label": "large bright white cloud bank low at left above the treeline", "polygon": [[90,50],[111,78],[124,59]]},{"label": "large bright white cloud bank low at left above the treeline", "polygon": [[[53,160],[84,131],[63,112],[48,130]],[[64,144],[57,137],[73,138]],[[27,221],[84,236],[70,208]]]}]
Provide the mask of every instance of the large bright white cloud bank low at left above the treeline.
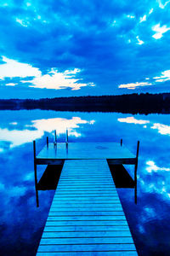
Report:
[{"label": "large bright white cloud bank low at left above the treeline", "polygon": [[[30,83],[30,87],[47,88],[47,89],[64,89],[71,88],[71,90],[79,90],[84,86],[94,86],[94,83],[80,83],[81,79],[76,79],[77,73],[82,70],[75,68],[73,70],[65,70],[63,73],[59,73],[58,70],[52,68],[49,73],[42,75],[41,71],[37,67],[32,67],[26,63],[20,63],[8,59],[3,56],[4,64],[0,65],[0,79],[4,78],[26,78],[34,77],[31,80],[20,80],[21,83]],[[6,84],[8,86],[14,86],[14,83]]]}]

